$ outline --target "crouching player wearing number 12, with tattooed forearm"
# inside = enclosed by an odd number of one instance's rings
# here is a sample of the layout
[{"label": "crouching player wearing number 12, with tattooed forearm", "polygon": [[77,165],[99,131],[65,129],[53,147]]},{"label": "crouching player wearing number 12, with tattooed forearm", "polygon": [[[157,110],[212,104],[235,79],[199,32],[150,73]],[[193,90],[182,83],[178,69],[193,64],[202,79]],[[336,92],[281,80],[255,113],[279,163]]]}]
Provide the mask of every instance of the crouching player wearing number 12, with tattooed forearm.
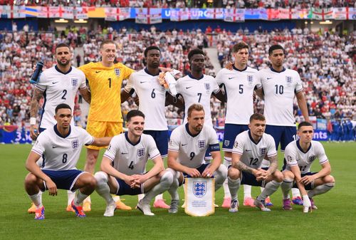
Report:
[{"label": "crouching player wearing number 12, with tattooed forearm", "polygon": [[[241,184],[264,187],[253,202],[262,211],[271,211],[265,207],[265,199],[281,186],[283,174],[278,171],[275,142],[265,132],[266,119],[259,113],[251,115],[250,130],[237,135],[232,150],[232,165],[228,172],[228,184],[231,193],[229,212],[238,212],[237,192]],[[268,168],[261,168],[265,157],[271,162]]]}]

